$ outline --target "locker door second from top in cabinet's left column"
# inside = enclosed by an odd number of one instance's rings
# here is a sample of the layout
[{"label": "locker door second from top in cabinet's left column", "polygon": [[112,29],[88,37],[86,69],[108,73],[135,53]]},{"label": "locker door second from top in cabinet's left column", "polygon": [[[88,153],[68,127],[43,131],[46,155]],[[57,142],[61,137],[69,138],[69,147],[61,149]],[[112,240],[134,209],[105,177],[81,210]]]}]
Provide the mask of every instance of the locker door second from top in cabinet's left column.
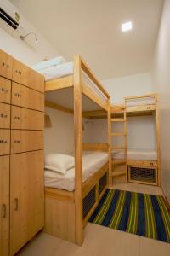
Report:
[{"label": "locker door second from top in cabinet's left column", "polygon": [[0,102],[10,103],[11,81],[0,77]]}]

